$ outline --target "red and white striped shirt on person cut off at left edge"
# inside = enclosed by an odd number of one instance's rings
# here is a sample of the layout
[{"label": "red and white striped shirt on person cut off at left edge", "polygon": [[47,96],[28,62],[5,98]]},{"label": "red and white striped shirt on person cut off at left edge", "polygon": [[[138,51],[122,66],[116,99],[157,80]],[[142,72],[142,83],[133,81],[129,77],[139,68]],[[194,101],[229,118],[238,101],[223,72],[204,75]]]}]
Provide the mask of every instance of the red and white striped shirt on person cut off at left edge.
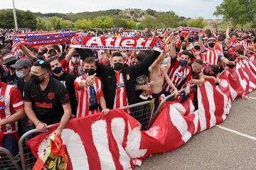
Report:
[{"label": "red and white striped shirt on person cut off at left edge", "polygon": [[[0,120],[15,114],[15,110],[23,108],[21,92],[14,86],[0,82]],[[18,121],[0,126],[0,132],[8,134],[18,131]]]}]

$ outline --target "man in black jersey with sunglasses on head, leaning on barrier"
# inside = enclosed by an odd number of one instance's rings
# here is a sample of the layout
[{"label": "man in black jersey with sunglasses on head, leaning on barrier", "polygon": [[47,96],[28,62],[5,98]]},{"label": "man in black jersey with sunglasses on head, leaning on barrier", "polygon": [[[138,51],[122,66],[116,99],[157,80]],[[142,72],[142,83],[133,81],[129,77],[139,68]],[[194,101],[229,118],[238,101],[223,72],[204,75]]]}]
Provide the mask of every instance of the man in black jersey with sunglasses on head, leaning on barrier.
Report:
[{"label": "man in black jersey with sunglasses on head, leaning on barrier", "polygon": [[49,62],[38,60],[33,64],[31,79],[23,91],[25,113],[36,129],[43,132],[47,125],[60,123],[55,134],[61,136],[71,116],[70,98],[65,86],[50,77]]}]

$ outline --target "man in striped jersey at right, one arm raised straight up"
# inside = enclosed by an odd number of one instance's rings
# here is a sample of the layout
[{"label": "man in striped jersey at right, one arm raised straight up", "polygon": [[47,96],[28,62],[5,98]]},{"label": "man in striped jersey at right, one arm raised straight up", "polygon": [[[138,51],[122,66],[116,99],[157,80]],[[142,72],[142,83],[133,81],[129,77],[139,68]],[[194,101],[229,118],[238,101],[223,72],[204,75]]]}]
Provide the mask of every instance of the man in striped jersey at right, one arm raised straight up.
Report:
[{"label": "man in striped jersey at right, one arm raised straight up", "polygon": [[220,60],[223,61],[225,64],[230,64],[230,61],[224,57],[224,55],[219,51],[215,50],[215,38],[209,38],[207,40],[208,47],[206,48],[205,45],[203,45],[203,30],[200,30],[198,33],[199,38],[199,45],[201,48],[202,53],[202,60],[203,62],[207,64],[215,64],[220,65]]}]

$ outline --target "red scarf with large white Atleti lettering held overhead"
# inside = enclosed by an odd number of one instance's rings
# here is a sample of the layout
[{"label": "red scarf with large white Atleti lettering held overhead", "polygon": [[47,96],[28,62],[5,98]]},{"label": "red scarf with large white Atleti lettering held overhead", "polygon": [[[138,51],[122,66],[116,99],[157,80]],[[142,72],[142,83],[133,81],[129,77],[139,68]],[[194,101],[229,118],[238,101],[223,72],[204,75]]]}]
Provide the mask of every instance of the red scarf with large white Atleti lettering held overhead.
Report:
[{"label": "red scarf with large white Atleti lettering held overhead", "polygon": [[70,47],[109,50],[151,50],[159,38],[85,37],[72,38]]}]

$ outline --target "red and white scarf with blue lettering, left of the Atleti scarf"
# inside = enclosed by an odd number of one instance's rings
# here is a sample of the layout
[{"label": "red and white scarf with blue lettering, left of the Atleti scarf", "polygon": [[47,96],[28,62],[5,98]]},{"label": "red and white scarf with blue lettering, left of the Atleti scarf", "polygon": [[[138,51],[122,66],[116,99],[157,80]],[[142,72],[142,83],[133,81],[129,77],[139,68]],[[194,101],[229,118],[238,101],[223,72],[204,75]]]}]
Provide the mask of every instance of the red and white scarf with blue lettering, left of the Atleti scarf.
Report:
[{"label": "red and white scarf with blue lettering, left of the Atleti scarf", "polygon": [[71,38],[79,35],[81,31],[61,31],[46,33],[18,33],[14,34],[14,38],[26,43],[26,45],[51,45],[70,42]]}]

